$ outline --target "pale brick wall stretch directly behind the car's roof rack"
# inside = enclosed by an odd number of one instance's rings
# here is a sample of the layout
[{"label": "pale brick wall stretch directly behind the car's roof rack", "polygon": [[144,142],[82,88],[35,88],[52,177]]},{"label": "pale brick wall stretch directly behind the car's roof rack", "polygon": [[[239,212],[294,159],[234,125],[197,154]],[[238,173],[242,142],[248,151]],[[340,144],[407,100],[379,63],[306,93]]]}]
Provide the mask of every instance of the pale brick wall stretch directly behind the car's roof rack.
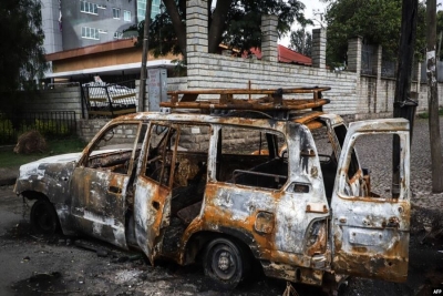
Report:
[{"label": "pale brick wall stretch directly behind the car's roof rack", "polygon": [[200,53],[188,58],[187,89],[331,86],[328,112],[354,114],[357,76],[348,72]]}]

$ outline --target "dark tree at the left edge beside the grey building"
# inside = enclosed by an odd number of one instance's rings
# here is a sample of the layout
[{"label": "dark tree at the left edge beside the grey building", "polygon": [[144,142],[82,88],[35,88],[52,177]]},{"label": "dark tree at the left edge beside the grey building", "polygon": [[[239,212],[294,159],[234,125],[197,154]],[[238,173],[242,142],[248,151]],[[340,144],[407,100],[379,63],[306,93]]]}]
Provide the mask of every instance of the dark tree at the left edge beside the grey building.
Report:
[{"label": "dark tree at the left edge beside the grey building", "polygon": [[[48,69],[41,29],[41,3],[38,0],[0,1],[0,109],[19,112],[23,100],[35,95],[35,78]],[[25,92],[23,92],[25,91]]]}]

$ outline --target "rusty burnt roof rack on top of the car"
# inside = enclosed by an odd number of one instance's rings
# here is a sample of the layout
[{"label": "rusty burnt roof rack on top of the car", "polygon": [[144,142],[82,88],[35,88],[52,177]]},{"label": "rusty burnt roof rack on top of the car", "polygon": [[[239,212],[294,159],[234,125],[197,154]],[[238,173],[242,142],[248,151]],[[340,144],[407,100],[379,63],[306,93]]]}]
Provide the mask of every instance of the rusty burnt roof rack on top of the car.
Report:
[{"label": "rusty burnt roof rack on top of the car", "polygon": [[[171,102],[161,102],[162,108],[172,110],[199,109],[212,114],[226,114],[226,111],[258,111],[277,119],[288,119],[291,111],[322,111],[330,100],[323,99],[322,92],[329,86],[293,89],[207,89],[169,91]],[[312,94],[312,99],[297,99],[296,95]],[[257,98],[257,95],[264,95]],[[199,95],[218,96],[218,99],[198,100]],[[251,96],[255,98],[251,98]],[[238,98],[238,96],[241,96]],[[248,96],[248,99],[244,99]],[[286,96],[286,98],[284,98]],[[291,96],[290,99],[287,96]]]}]

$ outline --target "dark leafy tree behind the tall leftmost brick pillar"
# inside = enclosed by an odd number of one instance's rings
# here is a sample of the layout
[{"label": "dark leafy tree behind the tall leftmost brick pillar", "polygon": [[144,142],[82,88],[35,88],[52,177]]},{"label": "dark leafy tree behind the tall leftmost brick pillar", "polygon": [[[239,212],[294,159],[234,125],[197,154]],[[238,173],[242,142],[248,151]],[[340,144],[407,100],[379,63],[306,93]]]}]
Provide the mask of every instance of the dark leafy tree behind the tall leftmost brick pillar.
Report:
[{"label": "dark leafy tree behind the tall leftmost brick pillar", "polygon": [[[182,53],[186,57],[186,0],[163,0],[166,10],[151,23],[150,47],[155,55]],[[259,48],[261,44],[261,14],[278,16],[278,33],[286,34],[297,20],[305,24],[305,6],[299,0],[226,0],[207,1],[208,52],[218,50],[222,42],[239,50]],[[137,25],[143,32],[144,22]],[[138,44],[143,34],[138,33]]]}]

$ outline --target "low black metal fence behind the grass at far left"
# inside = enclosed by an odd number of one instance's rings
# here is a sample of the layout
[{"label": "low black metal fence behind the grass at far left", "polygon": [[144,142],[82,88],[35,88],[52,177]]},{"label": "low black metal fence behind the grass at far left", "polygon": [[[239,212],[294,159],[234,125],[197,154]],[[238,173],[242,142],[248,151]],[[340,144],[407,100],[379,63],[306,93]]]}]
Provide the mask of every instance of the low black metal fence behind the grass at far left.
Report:
[{"label": "low black metal fence behind the grass at far left", "polygon": [[37,130],[45,139],[76,135],[74,111],[29,112],[18,115],[0,113],[0,144],[14,144],[20,134]]}]

